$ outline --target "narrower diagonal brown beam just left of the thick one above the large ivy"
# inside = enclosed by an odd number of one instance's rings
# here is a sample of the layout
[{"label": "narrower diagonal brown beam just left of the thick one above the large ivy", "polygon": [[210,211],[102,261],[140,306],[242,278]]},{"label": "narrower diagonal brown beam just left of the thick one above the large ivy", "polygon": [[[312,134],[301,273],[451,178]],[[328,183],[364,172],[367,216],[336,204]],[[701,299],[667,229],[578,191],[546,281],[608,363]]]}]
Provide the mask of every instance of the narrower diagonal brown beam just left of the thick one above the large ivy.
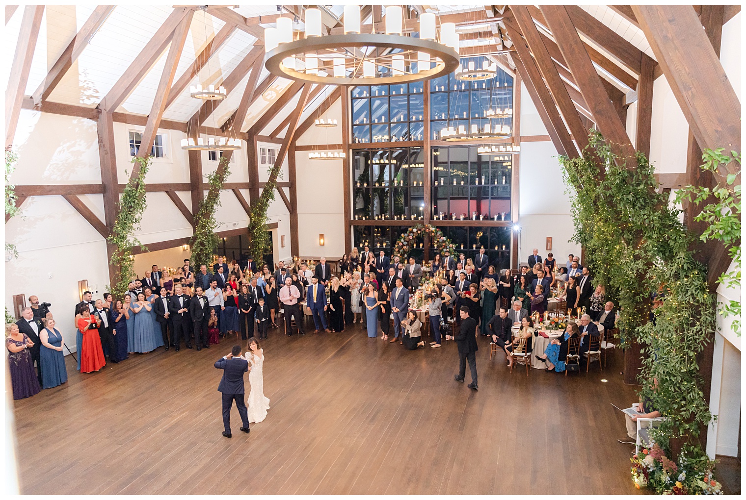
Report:
[{"label": "narrower diagonal brown beam just left of the thick one above the large ivy", "polygon": [[[510,16],[505,16],[503,21],[510,30],[513,29],[515,33],[515,23],[518,23],[518,32],[513,37],[513,43],[518,45],[516,39],[520,39],[523,34],[525,41],[530,48],[533,57],[536,59],[536,66],[544,76],[544,80],[551,92],[554,101],[557,103],[557,107],[560,108],[562,117],[565,118],[570,133],[577,142],[578,149],[583,151],[588,145],[588,130],[583,127],[583,122],[580,121],[580,116],[575,109],[575,105],[565,88],[565,84],[560,78],[560,74],[557,72],[557,67],[554,66],[549,51],[544,45],[542,38],[539,36],[539,30],[536,29],[536,25],[533,23],[528,9],[524,5],[513,5],[510,7],[513,12],[515,19]],[[620,92],[621,93],[621,92]]]}]

